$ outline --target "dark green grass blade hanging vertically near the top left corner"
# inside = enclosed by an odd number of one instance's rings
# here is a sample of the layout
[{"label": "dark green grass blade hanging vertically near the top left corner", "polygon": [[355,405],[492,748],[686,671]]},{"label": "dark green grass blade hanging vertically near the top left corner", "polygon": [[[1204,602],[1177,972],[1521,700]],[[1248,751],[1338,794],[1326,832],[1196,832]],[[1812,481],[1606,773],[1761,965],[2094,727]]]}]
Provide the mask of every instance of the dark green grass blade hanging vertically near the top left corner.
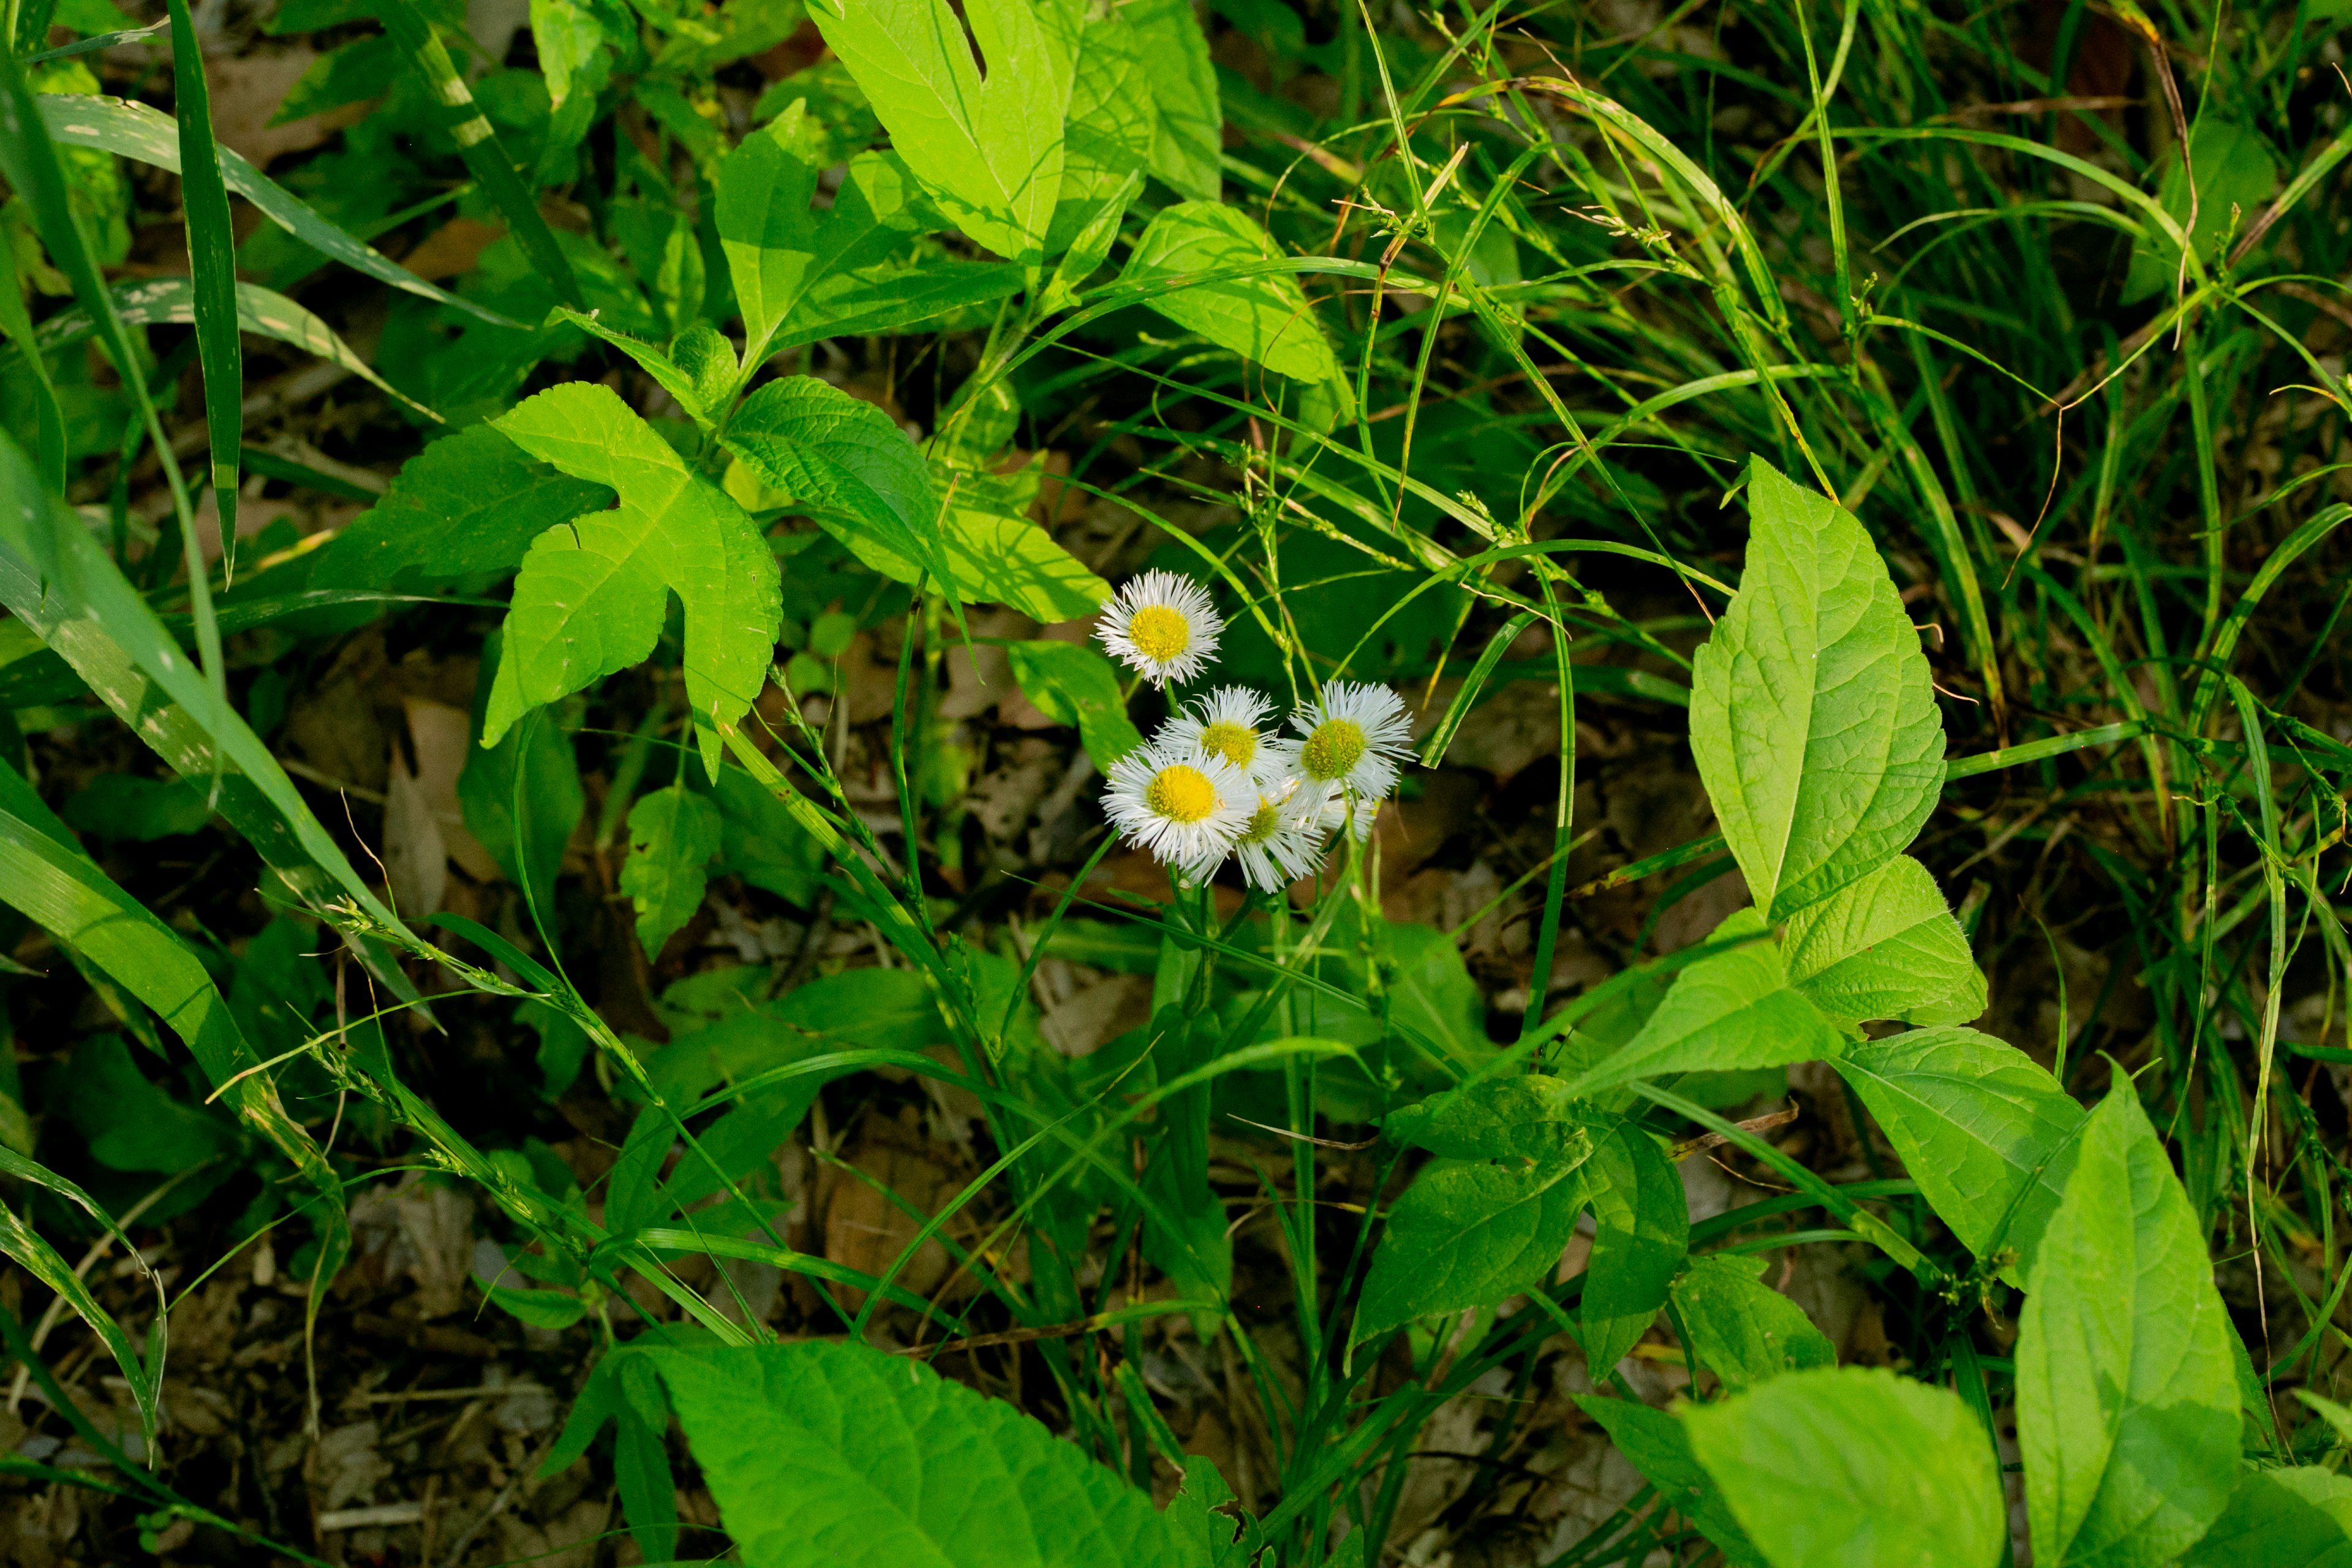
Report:
[{"label": "dark green grass blade hanging vertically near the top left corner", "polygon": [[[195,357],[205,369],[205,433],[212,437],[212,505],[221,515],[221,564],[238,578],[238,444],[245,433],[245,350],[238,343],[238,237],[212,141],[205,52],[188,0],[172,5],[172,103],[179,110],[179,202],[188,214],[188,294]],[[188,576],[202,571],[188,557]]]}]

